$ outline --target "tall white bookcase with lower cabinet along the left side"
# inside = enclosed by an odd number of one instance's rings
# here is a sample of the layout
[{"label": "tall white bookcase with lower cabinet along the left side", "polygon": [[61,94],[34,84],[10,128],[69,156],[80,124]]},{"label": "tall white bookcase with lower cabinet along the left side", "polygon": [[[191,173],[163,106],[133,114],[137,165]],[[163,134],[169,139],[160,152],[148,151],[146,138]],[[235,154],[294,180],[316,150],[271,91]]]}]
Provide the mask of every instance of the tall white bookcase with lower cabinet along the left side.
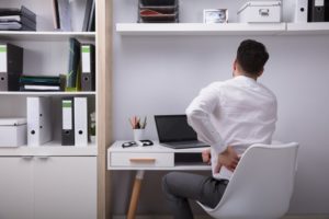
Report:
[{"label": "tall white bookcase with lower cabinet along the left side", "polygon": [[[86,1],[73,3],[77,2]],[[99,3],[104,1],[95,0],[97,10]],[[0,1],[0,8],[20,8],[21,4],[37,14],[37,32],[0,31],[0,42],[11,43],[24,49],[23,74],[66,73],[70,37],[80,43],[98,44],[97,32],[54,30],[52,1]],[[84,14],[84,10],[81,9],[81,12]],[[98,25],[99,18],[95,20]],[[98,47],[95,54],[99,55]],[[98,64],[100,62],[95,64],[97,77],[101,69]],[[0,92],[0,117],[26,117],[29,96],[50,96],[53,115],[53,141],[39,147],[0,147],[0,175],[7,177],[0,182],[0,203],[5,203],[0,205],[0,218],[98,217],[98,192],[104,193],[103,188],[98,186],[100,175],[104,174],[98,172],[100,147],[98,142],[89,142],[86,147],[61,146],[60,136],[61,97],[86,96],[89,113],[97,112],[99,120],[99,91],[97,87],[95,91],[90,92]],[[26,183],[21,178],[26,178]],[[22,184],[24,185],[20,186]]]}]

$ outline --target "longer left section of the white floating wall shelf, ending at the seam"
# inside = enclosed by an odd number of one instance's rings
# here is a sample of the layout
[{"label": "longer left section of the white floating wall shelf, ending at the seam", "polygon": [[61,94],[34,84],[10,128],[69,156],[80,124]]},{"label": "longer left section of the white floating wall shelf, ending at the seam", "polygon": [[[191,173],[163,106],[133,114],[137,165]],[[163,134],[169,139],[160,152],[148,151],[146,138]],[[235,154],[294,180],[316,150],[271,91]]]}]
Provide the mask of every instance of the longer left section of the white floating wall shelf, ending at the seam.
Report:
[{"label": "longer left section of the white floating wall shelf, ending at the seam", "polygon": [[117,23],[121,35],[276,35],[285,32],[285,23]]}]

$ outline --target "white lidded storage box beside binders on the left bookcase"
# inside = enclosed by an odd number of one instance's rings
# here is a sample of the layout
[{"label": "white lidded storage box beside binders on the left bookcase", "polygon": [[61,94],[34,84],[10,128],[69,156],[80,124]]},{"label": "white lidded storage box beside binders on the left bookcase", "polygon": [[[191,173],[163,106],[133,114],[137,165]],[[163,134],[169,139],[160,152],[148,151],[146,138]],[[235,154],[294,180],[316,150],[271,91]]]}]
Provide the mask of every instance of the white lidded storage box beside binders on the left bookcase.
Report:
[{"label": "white lidded storage box beside binders on the left bookcase", "polygon": [[0,147],[26,145],[26,118],[0,118]]}]

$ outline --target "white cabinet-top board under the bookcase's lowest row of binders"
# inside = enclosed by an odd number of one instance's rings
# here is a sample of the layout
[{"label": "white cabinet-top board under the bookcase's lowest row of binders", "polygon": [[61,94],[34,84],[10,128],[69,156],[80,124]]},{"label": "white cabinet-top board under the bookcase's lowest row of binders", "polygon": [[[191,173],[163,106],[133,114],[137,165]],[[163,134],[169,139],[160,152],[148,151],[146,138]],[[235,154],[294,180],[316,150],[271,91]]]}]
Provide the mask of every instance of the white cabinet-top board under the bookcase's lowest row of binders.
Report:
[{"label": "white cabinet-top board under the bookcase's lowest row of binders", "polygon": [[95,145],[88,147],[61,146],[60,142],[49,142],[39,147],[0,147],[0,155],[5,157],[76,157],[76,155],[98,155]]}]

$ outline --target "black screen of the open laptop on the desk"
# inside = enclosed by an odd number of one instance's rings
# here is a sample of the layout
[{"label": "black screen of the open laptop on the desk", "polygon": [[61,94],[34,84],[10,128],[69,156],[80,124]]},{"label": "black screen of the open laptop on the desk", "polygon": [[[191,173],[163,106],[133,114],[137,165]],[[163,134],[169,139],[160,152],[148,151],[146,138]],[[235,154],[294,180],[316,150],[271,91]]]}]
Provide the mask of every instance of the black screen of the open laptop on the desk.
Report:
[{"label": "black screen of the open laptop on the desk", "polygon": [[157,115],[155,119],[160,142],[197,140],[186,115]]}]

